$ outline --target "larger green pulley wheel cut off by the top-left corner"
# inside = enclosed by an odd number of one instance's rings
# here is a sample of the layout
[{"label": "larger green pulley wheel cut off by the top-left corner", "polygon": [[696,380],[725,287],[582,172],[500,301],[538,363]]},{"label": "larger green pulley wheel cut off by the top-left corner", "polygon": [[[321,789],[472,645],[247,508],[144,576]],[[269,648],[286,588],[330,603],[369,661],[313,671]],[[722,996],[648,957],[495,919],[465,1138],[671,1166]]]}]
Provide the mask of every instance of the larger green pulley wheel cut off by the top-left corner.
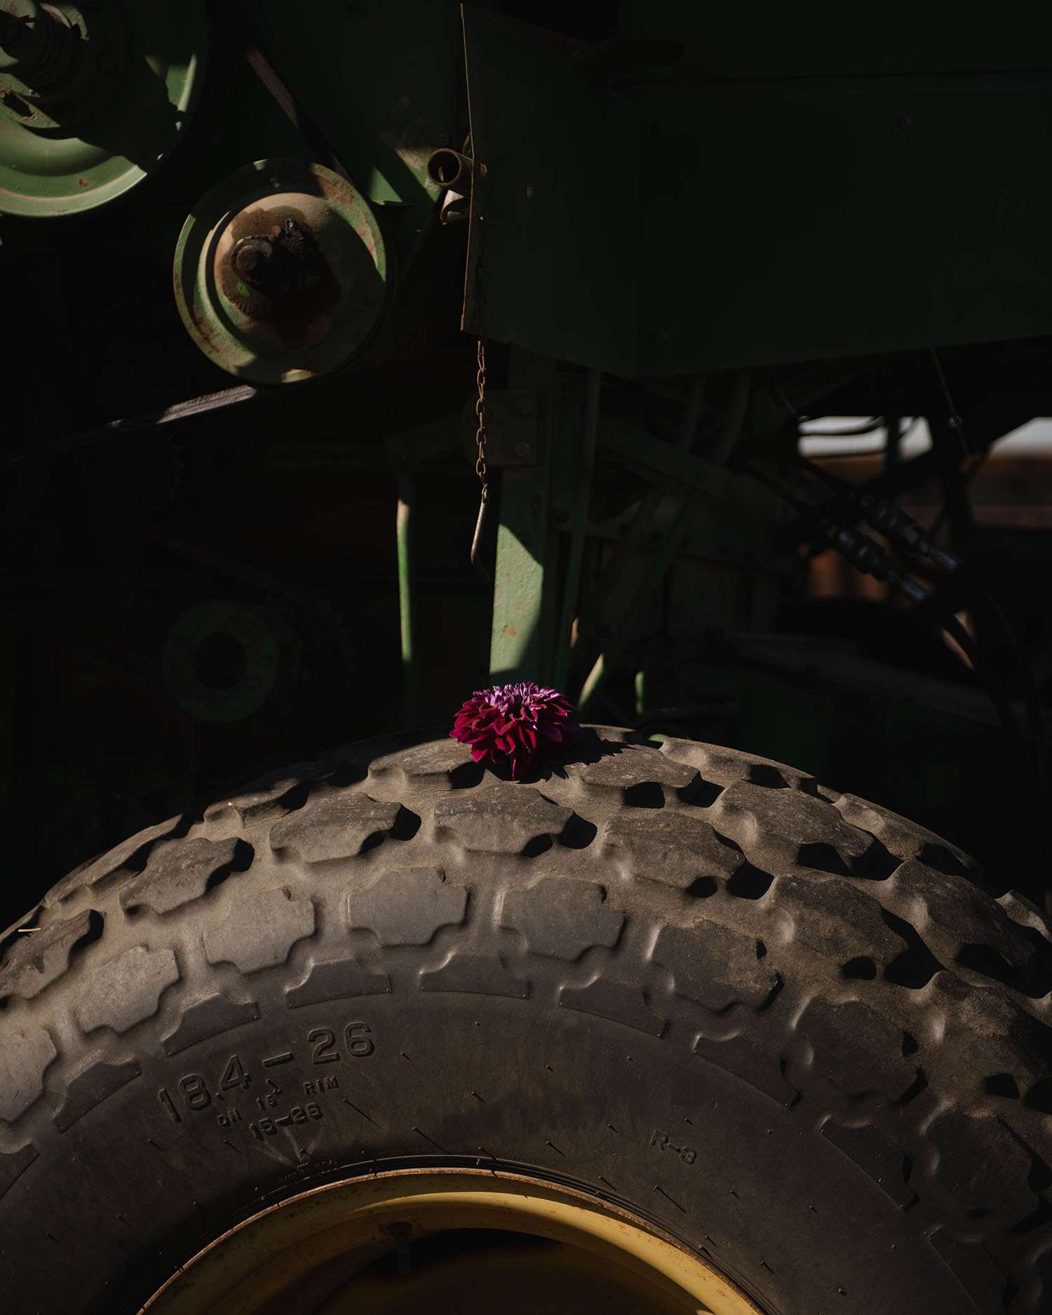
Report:
[{"label": "larger green pulley wheel cut off by the top-left corner", "polygon": [[200,0],[8,0],[0,22],[0,213],[95,209],[154,174],[201,97]]}]

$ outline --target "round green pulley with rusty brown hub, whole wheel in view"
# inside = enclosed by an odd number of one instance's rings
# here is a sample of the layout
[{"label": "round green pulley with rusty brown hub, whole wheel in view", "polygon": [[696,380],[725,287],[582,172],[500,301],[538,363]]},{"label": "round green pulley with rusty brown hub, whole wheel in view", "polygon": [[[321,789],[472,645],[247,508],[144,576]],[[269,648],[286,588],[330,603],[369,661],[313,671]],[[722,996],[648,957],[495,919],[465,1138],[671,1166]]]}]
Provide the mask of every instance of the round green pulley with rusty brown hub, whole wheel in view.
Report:
[{"label": "round green pulley with rusty brown hub, whole wheel in view", "polygon": [[175,252],[189,335],[260,384],[329,373],[362,351],[388,300],[388,252],[368,201],[300,160],[256,160],[193,208]]}]

